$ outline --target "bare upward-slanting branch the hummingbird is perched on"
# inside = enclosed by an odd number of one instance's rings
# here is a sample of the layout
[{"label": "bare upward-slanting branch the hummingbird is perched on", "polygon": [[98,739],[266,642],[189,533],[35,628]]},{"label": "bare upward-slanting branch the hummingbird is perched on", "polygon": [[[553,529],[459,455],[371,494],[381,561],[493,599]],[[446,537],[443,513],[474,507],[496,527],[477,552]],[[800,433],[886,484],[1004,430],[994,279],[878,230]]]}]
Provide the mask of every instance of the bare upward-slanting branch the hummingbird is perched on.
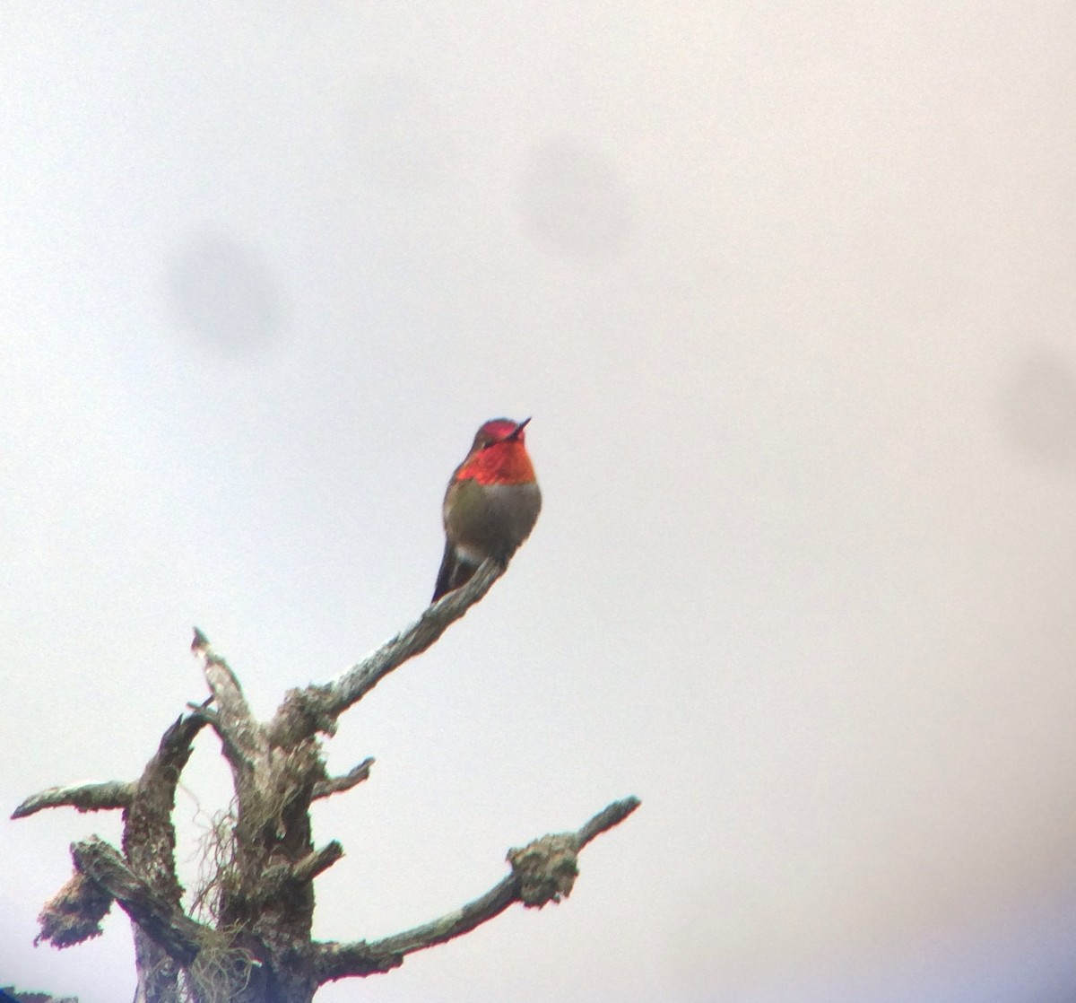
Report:
[{"label": "bare upward-slanting branch the hummingbird is perched on", "polygon": [[414,623],[334,682],[289,690],[269,724],[270,743],[286,747],[318,731],[331,735],[336,719],[344,710],[360,701],[391,672],[433,645],[490,591],[505,570],[497,561],[483,562],[467,584],[428,606]]}]

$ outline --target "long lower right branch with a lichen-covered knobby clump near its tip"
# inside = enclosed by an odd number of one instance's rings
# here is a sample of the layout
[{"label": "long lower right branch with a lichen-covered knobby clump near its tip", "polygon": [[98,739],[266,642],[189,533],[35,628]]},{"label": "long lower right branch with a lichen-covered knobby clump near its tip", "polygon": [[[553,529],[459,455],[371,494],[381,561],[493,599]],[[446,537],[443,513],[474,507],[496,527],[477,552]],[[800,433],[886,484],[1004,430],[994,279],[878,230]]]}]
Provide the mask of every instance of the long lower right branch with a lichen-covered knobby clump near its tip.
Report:
[{"label": "long lower right branch with a lichen-covered knobby clump near its tip", "polygon": [[[604,808],[578,832],[542,836],[520,850],[509,850],[508,859],[512,873],[502,878],[484,895],[468,902],[431,922],[424,923],[402,933],[396,933],[381,941],[351,944],[326,942],[315,945],[315,974],[318,985],[349,976],[373,975],[387,972],[404,963],[404,957],[416,950],[425,950],[435,944],[443,944],[454,937],[469,933],[476,927],[499,916],[513,902],[541,906],[548,901],[560,901],[561,894],[571,890],[570,880],[564,888],[565,874],[575,878],[575,854],[595,836],[619,824],[639,807],[637,797]],[[544,901],[532,901],[527,894],[528,884],[549,886],[553,892]]]}]

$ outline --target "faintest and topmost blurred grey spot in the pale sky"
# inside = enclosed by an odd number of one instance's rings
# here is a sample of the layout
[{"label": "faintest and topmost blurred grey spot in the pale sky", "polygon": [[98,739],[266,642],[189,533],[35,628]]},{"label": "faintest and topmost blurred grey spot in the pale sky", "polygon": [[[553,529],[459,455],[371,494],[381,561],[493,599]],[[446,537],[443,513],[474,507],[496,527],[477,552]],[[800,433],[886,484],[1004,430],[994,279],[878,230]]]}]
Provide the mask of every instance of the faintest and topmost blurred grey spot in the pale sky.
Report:
[{"label": "faintest and topmost blurred grey spot in the pale sky", "polygon": [[452,159],[452,143],[435,102],[407,77],[362,77],[345,142],[358,171],[387,188],[434,187]]}]

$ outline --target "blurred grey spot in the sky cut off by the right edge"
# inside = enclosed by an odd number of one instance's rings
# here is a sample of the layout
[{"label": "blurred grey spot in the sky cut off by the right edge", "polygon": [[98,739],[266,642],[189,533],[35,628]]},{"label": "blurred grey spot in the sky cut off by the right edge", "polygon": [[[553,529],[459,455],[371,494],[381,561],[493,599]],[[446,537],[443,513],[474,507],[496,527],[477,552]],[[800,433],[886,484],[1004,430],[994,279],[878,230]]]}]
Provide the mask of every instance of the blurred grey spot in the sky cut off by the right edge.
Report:
[{"label": "blurred grey spot in the sky cut off by the right edge", "polygon": [[1076,469],[1076,375],[1051,349],[1022,359],[1007,381],[1002,420],[1014,444],[1038,463]]}]

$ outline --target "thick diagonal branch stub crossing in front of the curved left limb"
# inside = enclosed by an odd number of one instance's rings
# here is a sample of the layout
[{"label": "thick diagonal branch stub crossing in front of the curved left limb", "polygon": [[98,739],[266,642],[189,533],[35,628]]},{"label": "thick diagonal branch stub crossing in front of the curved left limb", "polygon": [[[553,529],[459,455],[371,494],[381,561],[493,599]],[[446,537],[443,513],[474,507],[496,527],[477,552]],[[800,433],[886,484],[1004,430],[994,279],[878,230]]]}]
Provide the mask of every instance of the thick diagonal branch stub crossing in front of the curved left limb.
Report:
[{"label": "thick diagonal branch stub crossing in front of the curved left limb", "polygon": [[71,857],[79,872],[112,895],[139,929],[170,958],[182,965],[194,961],[209,928],[195,922],[134,875],[114,847],[94,836],[71,844]]}]

